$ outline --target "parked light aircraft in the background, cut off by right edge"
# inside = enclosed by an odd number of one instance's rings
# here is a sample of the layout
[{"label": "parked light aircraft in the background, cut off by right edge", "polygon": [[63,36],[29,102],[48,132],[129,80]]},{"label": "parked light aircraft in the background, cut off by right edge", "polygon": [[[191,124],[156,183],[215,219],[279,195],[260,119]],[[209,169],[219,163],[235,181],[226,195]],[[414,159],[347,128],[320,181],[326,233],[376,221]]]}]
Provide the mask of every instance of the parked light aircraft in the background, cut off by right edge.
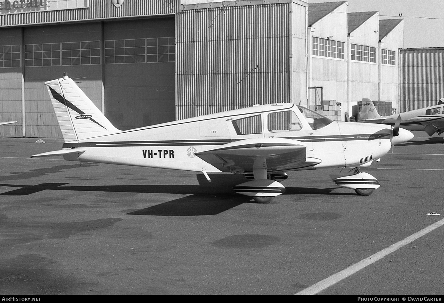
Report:
[{"label": "parked light aircraft in the background, cut off by right edge", "polygon": [[364,98],[362,99],[361,118],[358,122],[363,123],[381,123],[395,125],[396,118],[401,117],[400,126],[405,129],[413,131],[424,131],[429,136],[435,132],[440,135],[444,132],[444,103],[442,99],[438,105],[429,106],[423,109],[415,109],[409,112],[400,113],[399,115],[392,115],[381,117],[373,104],[373,101]]}]

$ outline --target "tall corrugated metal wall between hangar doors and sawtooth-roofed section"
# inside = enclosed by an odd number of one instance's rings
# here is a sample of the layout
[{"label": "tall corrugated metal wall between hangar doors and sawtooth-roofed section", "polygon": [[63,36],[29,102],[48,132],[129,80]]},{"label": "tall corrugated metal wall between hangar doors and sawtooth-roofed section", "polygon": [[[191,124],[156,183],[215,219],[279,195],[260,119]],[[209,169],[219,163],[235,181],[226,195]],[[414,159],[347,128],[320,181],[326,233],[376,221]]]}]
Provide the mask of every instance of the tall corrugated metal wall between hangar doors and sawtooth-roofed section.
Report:
[{"label": "tall corrugated metal wall between hangar doors and sawtooth-roofed section", "polygon": [[177,118],[289,102],[289,4],[178,12]]}]

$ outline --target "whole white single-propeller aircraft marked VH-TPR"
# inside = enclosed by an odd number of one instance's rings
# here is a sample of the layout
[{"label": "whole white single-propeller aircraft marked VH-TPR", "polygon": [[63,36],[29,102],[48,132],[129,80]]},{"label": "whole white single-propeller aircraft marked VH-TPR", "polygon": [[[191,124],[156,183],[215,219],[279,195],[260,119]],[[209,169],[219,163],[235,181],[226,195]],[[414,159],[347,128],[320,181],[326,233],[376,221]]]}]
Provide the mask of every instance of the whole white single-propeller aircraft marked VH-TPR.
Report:
[{"label": "whole white single-propeller aircraft marked VH-TPR", "polygon": [[[244,173],[252,181],[234,191],[258,203],[282,194],[285,171],[368,166],[392,144],[412,139],[399,123],[333,122],[292,103],[254,105],[201,117],[120,131],[75,82],[64,76],[45,82],[65,143],[65,160],[158,167],[185,171]],[[333,179],[369,195],[380,186],[365,172]],[[278,180],[278,181],[277,181]]]}]

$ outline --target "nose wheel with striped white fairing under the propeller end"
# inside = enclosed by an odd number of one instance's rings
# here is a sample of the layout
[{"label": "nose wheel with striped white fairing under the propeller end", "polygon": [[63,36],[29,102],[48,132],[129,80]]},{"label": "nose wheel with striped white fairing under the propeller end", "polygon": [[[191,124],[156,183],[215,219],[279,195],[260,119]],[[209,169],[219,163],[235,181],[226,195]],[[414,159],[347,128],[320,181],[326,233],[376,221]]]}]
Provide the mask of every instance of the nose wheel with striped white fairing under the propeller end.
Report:
[{"label": "nose wheel with striped white fairing under the propeller end", "polygon": [[381,184],[372,175],[361,172],[358,167],[354,168],[353,175],[338,177],[330,175],[337,186],[353,189],[361,196],[369,196]]}]

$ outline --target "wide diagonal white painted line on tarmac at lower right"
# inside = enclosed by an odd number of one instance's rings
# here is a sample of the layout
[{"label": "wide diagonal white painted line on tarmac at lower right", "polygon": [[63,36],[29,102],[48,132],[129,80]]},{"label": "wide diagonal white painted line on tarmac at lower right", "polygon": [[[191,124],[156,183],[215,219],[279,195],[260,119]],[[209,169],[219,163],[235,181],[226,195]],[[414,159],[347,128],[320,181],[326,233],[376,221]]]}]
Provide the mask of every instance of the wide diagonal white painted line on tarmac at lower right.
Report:
[{"label": "wide diagonal white painted line on tarmac at lower right", "polygon": [[441,219],[440,221],[437,221],[436,223],[433,223],[432,225],[429,225],[426,228],[421,229],[419,232],[414,233],[411,236],[408,236],[404,240],[396,242],[395,244],[390,245],[386,249],[383,249],[380,252],[375,253],[369,256],[368,258],[356,264],[353,264],[338,273],[335,273],[333,276],[329,276],[327,279],[319,281],[316,284],[313,284],[312,286],[299,291],[294,295],[316,295],[318,292],[323,291],[325,288],[330,287],[333,284],[336,284],[337,282],[347,278],[350,275],[353,275],[355,272],[360,271],[362,268],[365,268],[366,266],[376,262],[377,260],[387,256],[388,254],[393,253],[394,251],[415,241],[416,239],[424,236],[425,234],[430,233],[432,230],[437,229],[442,225],[444,225],[444,219]]}]

